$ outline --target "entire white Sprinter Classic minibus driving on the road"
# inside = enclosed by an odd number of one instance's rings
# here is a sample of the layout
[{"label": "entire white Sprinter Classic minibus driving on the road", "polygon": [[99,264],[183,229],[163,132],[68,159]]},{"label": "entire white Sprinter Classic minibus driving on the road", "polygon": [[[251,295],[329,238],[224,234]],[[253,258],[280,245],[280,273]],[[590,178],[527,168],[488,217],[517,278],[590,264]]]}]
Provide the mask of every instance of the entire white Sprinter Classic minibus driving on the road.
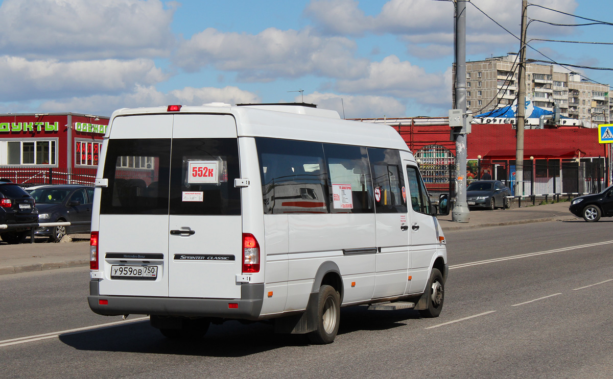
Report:
[{"label": "entire white Sprinter Classic minibus driving on the road", "polygon": [[272,320],[334,340],[340,307],[441,312],[447,253],[405,141],[305,105],[113,113],[96,175],[89,307],[167,337]]}]

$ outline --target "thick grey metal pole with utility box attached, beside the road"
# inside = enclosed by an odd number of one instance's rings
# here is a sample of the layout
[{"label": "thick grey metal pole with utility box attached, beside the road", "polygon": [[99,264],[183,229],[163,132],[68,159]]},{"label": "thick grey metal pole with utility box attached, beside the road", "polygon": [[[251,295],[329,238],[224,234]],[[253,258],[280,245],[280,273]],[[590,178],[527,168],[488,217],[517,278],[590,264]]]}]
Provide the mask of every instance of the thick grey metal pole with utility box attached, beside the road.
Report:
[{"label": "thick grey metal pole with utility box attached, beside the road", "polygon": [[[451,219],[468,222],[470,211],[466,203],[466,133],[470,122],[466,119],[466,1],[455,1],[455,110],[461,111],[462,126],[455,137],[455,205]],[[449,122],[451,126],[451,116]],[[452,133],[453,135],[453,133]]]}]

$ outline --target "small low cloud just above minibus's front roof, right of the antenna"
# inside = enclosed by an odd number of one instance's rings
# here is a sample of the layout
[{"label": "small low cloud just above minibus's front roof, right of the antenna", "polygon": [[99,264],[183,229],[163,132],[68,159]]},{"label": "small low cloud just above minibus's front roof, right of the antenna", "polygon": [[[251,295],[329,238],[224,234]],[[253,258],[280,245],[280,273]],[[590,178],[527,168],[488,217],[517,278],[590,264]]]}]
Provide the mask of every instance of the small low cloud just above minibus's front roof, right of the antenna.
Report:
[{"label": "small low cloud just above minibus's front roof, right of the antenna", "polygon": [[[295,99],[300,101],[300,97]],[[343,118],[377,118],[384,114],[394,117],[405,114],[406,106],[387,96],[346,96],[332,93],[313,92],[304,96],[306,103],[317,104],[318,108],[335,110]]]}]

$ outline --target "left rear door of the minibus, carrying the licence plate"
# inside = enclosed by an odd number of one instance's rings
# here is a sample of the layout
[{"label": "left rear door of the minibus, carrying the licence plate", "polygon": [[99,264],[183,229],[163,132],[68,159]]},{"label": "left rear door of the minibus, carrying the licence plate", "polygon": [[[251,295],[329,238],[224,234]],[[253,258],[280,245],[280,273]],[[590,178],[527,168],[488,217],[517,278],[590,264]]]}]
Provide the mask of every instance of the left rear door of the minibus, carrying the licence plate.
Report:
[{"label": "left rear door of the minibus, carrying the licence plate", "polygon": [[172,114],[113,121],[99,218],[101,295],[168,296],[172,121]]}]

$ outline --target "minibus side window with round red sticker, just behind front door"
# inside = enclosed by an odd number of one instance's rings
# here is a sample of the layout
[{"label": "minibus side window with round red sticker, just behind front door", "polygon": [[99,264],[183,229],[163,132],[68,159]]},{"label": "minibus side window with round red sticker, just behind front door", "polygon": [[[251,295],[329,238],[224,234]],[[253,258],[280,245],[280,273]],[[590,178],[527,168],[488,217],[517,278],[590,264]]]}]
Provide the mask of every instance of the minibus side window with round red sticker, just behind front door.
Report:
[{"label": "minibus side window with round red sticker, just behind front door", "polygon": [[368,148],[368,159],[373,173],[373,186],[377,191],[376,212],[406,213],[406,200],[402,195],[405,179],[400,170],[400,152],[393,149]]}]

